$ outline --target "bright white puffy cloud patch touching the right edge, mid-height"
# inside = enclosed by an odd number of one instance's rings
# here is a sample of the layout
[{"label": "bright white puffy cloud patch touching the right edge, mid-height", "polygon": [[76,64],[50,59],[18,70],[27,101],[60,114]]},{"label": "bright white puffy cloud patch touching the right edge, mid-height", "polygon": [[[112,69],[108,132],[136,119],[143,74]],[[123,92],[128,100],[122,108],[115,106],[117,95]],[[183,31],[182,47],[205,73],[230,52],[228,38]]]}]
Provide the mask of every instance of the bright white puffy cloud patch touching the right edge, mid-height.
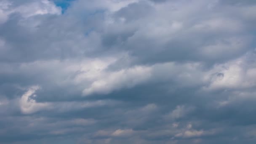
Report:
[{"label": "bright white puffy cloud patch touching the right edge, mid-height", "polygon": [[247,53],[224,64],[216,64],[213,69],[205,73],[205,80],[210,81],[210,85],[203,89],[242,89],[255,86],[255,63],[248,63],[248,59],[251,59],[252,56],[254,55]]}]

